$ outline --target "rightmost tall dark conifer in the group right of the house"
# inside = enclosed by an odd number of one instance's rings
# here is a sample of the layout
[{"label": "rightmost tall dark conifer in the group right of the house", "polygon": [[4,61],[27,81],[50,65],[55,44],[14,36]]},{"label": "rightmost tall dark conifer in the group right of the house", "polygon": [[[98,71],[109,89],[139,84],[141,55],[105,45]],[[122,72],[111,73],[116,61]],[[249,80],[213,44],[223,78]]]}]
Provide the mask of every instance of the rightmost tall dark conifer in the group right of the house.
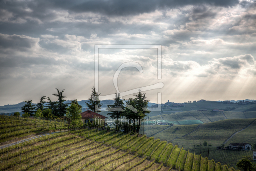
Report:
[{"label": "rightmost tall dark conifer in the group right of the house", "polygon": [[145,116],[147,116],[148,113],[150,113],[150,111],[147,109],[148,107],[148,102],[150,102],[149,100],[146,100],[146,93],[144,93],[142,95],[141,91],[139,90],[139,94],[138,95],[133,95],[136,98],[134,99],[135,102],[135,108],[138,110],[137,112],[137,118],[139,119],[139,125],[137,126],[137,133],[139,133],[140,131],[140,121],[141,119],[145,118]]}]

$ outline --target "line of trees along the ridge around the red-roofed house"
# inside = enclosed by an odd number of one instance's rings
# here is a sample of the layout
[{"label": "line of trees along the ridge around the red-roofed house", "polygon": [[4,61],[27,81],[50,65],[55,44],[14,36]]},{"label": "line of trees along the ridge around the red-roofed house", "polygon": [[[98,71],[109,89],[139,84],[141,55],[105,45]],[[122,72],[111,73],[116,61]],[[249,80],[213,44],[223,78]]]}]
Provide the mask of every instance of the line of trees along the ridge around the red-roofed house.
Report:
[{"label": "line of trees along the ridge around the red-roofed house", "polygon": [[[53,94],[58,97],[58,101],[53,102],[49,97],[41,97],[39,103],[32,105],[32,100],[25,101],[21,110],[24,114],[23,117],[44,117],[44,118],[60,118],[68,122],[68,126],[104,126],[97,123],[97,117],[94,117],[94,121],[88,123],[82,123],[82,106],[78,104],[77,99],[72,100],[71,103],[64,103],[67,98],[63,96],[63,92],[57,90],[57,94]],[[88,98],[89,102],[85,102],[87,107],[93,112],[100,113],[101,110],[101,100],[99,100],[100,94],[96,92],[95,87],[92,88],[92,93]],[[150,112],[147,110],[149,100],[146,100],[146,93],[142,93],[139,90],[138,95],[133,95],[135,98],[121,99],[120,94],[116,94],[114,99],[114,104],[107,105],[108,115],[115,120],[116,130],[123,129],[125,132],[139,132],[141,119],[145,118]],[[47,99],[48,101],[44,101]],[[46,103],[46,106],[44,104]],[[70,106],[68,106],[70,104]],[[19,116],[19,112],[15,112],[14,115]],[[120,121],[120,119],[125,118],[129,124],[125,124]]]}]

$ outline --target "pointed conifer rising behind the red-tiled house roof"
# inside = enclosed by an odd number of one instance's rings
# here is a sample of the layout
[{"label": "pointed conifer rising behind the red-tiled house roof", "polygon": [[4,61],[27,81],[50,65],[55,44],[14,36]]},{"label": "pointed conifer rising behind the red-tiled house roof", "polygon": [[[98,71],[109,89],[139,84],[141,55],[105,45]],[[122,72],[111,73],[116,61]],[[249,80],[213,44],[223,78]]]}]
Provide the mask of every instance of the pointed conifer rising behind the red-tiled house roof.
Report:
[{"label": "pointed conifer rising behind the red-tiled house roof", "polygon": [[86,105],[87,105],[87,107],[88,107],[90,110],[92,110],[92,111],[94,111],[94,112],[97,111],[98,113],[101,112],[101,111],[100,111],[100,107],[102,106],[102,104],[100,103],[101,101],[100,101],[100,99],[99,99],[99,96],[100,96],[100,94],[98,94],[98,93],[96,92],[95,87],[93,87],[93,88],[92,88],[91,97],[88,98],[88,99],[89,99],[89,103],[85,102]]}]

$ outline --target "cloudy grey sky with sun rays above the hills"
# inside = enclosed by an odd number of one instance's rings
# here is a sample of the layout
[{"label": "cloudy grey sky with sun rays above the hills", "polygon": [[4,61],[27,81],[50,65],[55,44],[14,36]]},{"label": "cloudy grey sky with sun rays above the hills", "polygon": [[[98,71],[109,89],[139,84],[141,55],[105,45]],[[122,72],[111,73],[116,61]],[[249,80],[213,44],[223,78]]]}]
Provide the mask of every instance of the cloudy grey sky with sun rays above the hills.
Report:
[{"label": "cloudy grey sky with sun rays above the hills", "polygon": [[[255,0],[4,0],[0,1],[0,105],[65,89],[66,100],[85,100],[95,86],[100,48],[101,96],[162,82],[143,91],[150,102],[256,99]],[[132,94],[123,98],[134,97]]]}]

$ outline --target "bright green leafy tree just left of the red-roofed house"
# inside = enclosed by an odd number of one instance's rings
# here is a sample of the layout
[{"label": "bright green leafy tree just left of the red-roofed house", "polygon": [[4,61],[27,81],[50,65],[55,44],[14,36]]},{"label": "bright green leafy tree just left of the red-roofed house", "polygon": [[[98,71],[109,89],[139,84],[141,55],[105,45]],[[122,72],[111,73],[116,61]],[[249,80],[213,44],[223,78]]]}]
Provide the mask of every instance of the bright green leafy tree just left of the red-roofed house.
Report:
[{"label": "bright green leafy tree just left of the red-roofed house", "polygon": [[71,105],[67,108],[67,117],[71,120],[72,126],[82,126],[82,110],[76,103],[71,103]]}]

